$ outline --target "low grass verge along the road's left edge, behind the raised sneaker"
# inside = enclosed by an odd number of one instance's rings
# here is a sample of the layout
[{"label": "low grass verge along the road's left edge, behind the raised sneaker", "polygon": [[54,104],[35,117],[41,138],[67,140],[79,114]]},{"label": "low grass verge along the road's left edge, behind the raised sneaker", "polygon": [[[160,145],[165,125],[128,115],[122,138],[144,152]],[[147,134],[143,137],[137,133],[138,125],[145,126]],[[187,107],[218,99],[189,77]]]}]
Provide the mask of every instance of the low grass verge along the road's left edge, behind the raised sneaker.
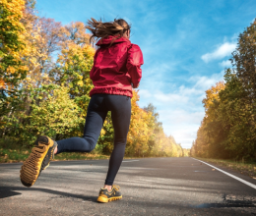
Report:
[{"label": "low grass verge along the road's left edge, behind the raised sneaker", "polygon": [[[0,148],[0,163],[16,163],[25,161],[31,153],[27,149],[5,149]],[[108,159],[109,156],[96,153],[61,153],[54,157],[53,161],[59,160],[99,160]]]}]

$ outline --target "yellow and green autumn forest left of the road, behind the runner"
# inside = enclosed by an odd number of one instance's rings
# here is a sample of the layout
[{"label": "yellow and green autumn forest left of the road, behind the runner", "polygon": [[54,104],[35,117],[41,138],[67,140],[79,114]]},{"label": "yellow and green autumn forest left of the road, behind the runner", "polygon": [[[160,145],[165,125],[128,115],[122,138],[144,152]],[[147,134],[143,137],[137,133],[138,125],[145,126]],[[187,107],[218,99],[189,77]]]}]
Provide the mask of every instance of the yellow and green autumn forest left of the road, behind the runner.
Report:
[{"label": "yellow and green autumn forest left of the road, behind the runner", "polygon": [[[35,5],[34,0],[0,2],[3,147],[12,143],[30,148],[37,135],[55,140],[83,135],[96,47],[90,44],[84,23],[62,25],[39,17]],[[187,155],[173,136],[164,134],[156,107],[139,107],[139,90],[133,94],[126,156]],[[108,113],[95,151],[107,155],[112,148],[113,127]]]}]

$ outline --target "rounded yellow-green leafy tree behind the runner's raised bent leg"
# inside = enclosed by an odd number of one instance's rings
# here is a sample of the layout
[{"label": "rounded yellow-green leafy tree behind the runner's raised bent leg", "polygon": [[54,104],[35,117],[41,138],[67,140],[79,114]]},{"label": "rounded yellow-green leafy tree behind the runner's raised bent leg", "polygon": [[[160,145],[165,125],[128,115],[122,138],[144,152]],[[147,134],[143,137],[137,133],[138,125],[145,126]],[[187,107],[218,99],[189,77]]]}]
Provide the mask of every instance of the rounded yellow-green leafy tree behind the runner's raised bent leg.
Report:
[{"label": "rounded yellow-green leafy tree behind the runner's raised bent leg", "polygon": [[79,126],[85,120],[79,115],[79,107],[70,99],[68,88],[59,85],[42,85],[32,88],[30,112],[24,112],[23,101],[28,94],[21,94],[20,108],[12,116],[4,116],[4,134],[14,142],[30,146],[37,135],[48,135],[54,139],[81,135]]}]

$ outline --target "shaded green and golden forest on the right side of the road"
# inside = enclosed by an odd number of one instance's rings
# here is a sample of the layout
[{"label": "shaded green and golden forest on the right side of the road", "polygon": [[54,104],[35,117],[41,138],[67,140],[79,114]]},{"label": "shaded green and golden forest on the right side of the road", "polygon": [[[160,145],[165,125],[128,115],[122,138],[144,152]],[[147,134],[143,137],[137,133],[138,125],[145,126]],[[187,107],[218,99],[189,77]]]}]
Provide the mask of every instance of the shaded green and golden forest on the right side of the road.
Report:
[{"label": "shaded green and golden forest on the right side of the road", "polygon": [[192,156],[256,160],[256,20],[237,41],[224,81],[206,91]]}]

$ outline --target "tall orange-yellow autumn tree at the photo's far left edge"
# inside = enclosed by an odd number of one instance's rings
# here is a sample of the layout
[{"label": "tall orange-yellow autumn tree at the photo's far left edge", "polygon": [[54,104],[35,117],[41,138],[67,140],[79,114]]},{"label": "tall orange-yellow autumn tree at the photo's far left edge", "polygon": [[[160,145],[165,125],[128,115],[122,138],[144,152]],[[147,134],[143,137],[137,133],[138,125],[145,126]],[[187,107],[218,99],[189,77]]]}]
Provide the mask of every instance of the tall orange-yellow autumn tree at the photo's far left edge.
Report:
[{"label": "tall orange-yellow autumn tree at the photo's far left edge", "polygon": [[[22,81],[30,70],[27,59],[32,46],[31,21],[34,20],[33,0],[1,1],[0,50],[0,130],[6,129],[5,115],[12,116],[21,104]],[[2,134],[4,135],[4,133]]]}]

